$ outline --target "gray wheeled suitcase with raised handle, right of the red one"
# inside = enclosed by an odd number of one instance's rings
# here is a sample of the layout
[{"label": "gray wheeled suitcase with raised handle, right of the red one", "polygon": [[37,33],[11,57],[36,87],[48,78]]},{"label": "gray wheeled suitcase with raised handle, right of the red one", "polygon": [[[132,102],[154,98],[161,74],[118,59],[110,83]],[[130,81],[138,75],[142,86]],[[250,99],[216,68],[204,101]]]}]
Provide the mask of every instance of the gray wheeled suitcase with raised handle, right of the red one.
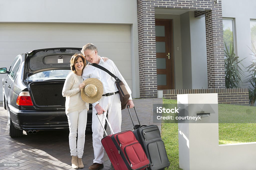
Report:
[{"label": "gray wheeled suitcase with raised handle, right of the red one", "polygon": [[[132,115],[130,112],[129,107],[127,107],[132,119]],[[135,107],[134,107],[135,110]],[[136,113],[136,110],[135,110]],[[137,116],[137,113],[136,113]],[[138,116],[137,116],[138,118]],[[132,120],[133,123],[133,120]],[[164,142],[161,138],[160,131],[156,125],[134,125],[133,128],[135,129],[133,131],[135,137],[142,145],[142,148],[144,149],[149,161],[150,161],[150,170],[159,170],[164,169],[166,167],[170,166],[170,162],[167,157],[167,153],[165,150]]]}]

